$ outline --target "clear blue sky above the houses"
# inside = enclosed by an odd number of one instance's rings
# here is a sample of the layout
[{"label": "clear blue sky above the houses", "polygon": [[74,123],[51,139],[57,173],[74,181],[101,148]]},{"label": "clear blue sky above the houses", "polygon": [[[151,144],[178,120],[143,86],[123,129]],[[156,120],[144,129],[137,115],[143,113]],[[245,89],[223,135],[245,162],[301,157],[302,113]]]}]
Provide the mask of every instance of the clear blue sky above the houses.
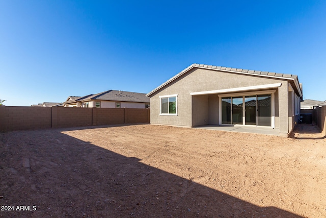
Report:
[{"label": "clear blue sky above the houses", "polygon": [[193,64],[298,75],[326,100],[326,1],[0,0],[0,99],[148,93]]}]

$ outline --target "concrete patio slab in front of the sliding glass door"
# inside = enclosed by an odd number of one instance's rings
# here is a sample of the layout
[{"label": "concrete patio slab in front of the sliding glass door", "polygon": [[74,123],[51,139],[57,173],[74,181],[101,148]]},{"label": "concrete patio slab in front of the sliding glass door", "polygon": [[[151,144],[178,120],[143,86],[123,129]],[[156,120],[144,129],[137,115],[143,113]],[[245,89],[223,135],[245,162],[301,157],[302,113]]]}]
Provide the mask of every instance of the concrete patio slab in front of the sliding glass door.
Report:
[{"label": "concrete patio slab in front of the sliding glass door", "polygon": [[193,127],[195,129],[207,129],[207,130],[220,130],[227,132],[244,132],[244,133],[256,133],[264,135],[280,135],[279,129],[273,129],[271,127],[249,127],[249,126],[218,126],[218,125],[203,125]]}]

